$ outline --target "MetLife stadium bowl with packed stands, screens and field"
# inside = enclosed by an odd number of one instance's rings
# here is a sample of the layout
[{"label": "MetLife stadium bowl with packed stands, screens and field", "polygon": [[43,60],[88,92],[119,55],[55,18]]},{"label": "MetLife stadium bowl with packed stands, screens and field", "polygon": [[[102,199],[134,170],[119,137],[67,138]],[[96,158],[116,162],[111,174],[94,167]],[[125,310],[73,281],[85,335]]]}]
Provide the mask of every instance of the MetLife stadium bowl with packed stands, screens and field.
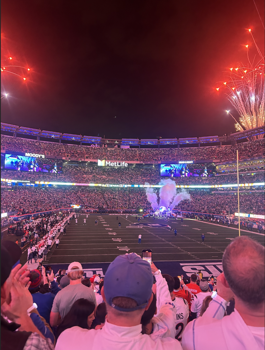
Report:
[{"label": "MetLife stadium bowl with packed stands, screens and field", "polygon": [[[225,247],[238,235],[236,150],[241,232],[264,241],[264,138],[258,138],[263,135],[264,127],[228,137],[108,140],[1,123],[2,230],[17,222],[24,227],[31,217],[51,212],[78,213],[78,227],[71,223],[71,233],[47,255],[58,269],[78,257],[86,268],[99,263],[96,268],[105,272],[120,250],[141,254],[139,233],[141,248],[151,248],[158,266],[168,271],[177,264],[175,273],[181,274],[179,264],[193,260],[220,264]],[[190,198],[166,217],[161,208],[153,209],[146,189],[160,202],[159,191],[168,179],[175,184],[174,195],[184,190]],[[119,233],[114,232],[116,216],[123,229]],[[178,216],[184,224],[176,221]],[[209,226],[213,220],[216,227]],[[15,232],[21,236],[23,228]],[[207,247],[202,247],[202,233]],[[27,245],[23,249],[27,252]],[[26,262],[27,254],[23,258]],[[205,273],[213,274],[209,268]]]}]

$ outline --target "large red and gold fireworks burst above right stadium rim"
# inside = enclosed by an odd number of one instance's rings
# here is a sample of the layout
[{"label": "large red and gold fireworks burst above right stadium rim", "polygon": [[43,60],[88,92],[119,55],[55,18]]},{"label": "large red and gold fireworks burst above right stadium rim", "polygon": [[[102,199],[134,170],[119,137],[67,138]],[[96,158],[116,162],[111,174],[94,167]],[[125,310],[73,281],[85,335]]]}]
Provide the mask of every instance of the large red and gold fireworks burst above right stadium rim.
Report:
[{"label": "large red and gold fireworks burst above right stadium rim", "polygon": [[[249,45],[245,45],[248,56],[248,65],[238,65],[236,68],[230,68],[230,74],[222,87],[229,90],[227,98],[239,114],[237,121],[232,114],[227,111],[236,121],[237,131],[249,130],[264,125],[264,56],[260,52],[256,41],[252,35],[251,29],[248,29],[255,43],[258,55],[258,63],[249,59]],[[221,88],[217,87],[219,91]]]}]

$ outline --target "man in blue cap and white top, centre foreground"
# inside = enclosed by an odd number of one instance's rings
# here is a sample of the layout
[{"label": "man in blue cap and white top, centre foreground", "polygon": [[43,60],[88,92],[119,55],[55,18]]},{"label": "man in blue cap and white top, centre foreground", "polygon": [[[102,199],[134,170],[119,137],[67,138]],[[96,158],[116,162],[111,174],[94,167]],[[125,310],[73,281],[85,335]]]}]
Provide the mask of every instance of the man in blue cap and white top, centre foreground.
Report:
[{"label": "man in blue cap and white top, centre foreground", "polygon": [[142,334],[141,317],[152,300],[153,276],[149,262],[136,253],[119,255],[109,265],[101,294],[107,307],[102,329],[72,327],[63,331],[56,350],[180,350],[176,339],[153,341]]}]

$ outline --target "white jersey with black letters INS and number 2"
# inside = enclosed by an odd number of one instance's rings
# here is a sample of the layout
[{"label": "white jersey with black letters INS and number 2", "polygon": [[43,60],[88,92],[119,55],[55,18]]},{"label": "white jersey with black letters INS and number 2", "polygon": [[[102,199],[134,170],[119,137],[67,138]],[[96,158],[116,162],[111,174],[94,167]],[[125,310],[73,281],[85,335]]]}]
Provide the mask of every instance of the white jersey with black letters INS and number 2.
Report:
[{"label": "white jersey with black letters INS and number 2", "polygon": [[182,333],[187,325],[189,318],[189,304],[185,299],[178,298],[177,296],[175,300],[172,300],[172,303],[175,306],[174,311],[176,312],[177,316],[176,339],[181,341]]}]

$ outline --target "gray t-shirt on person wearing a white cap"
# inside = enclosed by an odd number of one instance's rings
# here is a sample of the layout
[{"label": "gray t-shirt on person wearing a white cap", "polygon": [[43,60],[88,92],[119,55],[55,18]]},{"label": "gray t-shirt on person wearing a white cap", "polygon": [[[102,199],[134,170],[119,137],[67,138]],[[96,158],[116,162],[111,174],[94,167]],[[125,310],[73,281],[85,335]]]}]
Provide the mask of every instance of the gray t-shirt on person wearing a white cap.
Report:
[{"label": "gray t-shirt on person wearing a white cap", "polygon": [[53,300],[52,312],[58,312],[62,319],[69,313],[73,303],[78,299],[87,299],[97,305],[94,290],[84,286],[82,283],[68,285],[58,292]]}]

